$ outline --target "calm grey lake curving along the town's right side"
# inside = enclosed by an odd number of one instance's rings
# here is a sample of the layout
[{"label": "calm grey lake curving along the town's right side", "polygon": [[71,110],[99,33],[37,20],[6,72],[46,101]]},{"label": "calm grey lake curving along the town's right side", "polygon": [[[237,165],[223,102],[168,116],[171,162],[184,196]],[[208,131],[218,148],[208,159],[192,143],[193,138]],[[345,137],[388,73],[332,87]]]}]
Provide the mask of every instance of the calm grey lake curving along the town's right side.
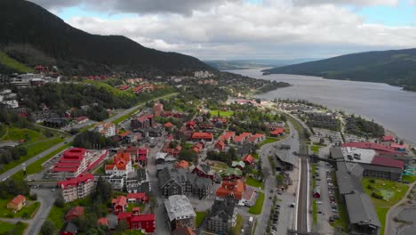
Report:
[{"label": "calm grey lake curving along the town's right side", "polygon": [[248,77],[290,83],[292,86],[263,93],[260,99],[308,100],[330,109],[373,119],[400,138],[416,142],[416,93],[387,84],[340,81],[299,75],[262,76],[262,69],[229,70]]}]

